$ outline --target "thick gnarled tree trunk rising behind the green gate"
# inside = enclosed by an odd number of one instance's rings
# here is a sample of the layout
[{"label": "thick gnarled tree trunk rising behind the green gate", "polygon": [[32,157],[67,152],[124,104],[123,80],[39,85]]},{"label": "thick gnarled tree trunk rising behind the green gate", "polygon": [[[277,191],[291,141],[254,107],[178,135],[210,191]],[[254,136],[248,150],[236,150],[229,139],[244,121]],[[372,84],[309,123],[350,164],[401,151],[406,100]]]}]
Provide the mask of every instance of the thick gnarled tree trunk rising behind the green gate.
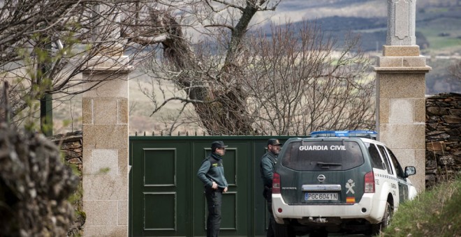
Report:
[{"label": "thick gnarled tree trunk rising behind the green gate", "polygon": [[[221,68],[221,75],[227,77],[234,77],[235,75],[231,65],[235,60],[237,46],[244,36],[249,20],[256,13],[256,9],[245,10],[245,13],[247,14],[242,16],[242,20],[233,31],[231,46],[228,49],[224,66]],[[182,37],[181,26],[169,15],[162,15],[162,17],[161,22],[168,22],[169,24],[163,25],[164,30],[168,33],[167,39],[162,42],[163,54],[166,59],[174,64],[177,72],[199,68],[189,43]],[[226,76],[220,78],[222,82],[229,80]],[[252,132],[250,119],[242,111],[246,105],[244,95],[239,88],[224,92],[214,91],[214,87],[207,85],[207,82],[200,81],[200,85],[192,84],[192,82],[197,83],[198,80],[194,80],[189,75],[184,75],[174,82],[180,89],[186,91],[189,99],[199,101],[193,102],[193,106],[208,134],[242,135]]]}]

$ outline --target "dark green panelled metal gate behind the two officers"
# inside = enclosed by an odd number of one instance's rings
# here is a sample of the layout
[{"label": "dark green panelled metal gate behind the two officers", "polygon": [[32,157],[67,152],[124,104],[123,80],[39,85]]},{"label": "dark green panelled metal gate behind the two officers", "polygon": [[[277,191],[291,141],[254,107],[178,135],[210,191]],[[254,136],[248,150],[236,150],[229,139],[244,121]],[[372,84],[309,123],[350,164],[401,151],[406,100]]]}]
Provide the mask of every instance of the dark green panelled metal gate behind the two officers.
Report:
[{"label": "dark green panelled metal gate behind the two officers", "polygon": [[269,138],[130,137],[130,236],[206,236],[206,201],[196,173],[216,140],[228,145],[220,236],[265,236],[259,162]]}]

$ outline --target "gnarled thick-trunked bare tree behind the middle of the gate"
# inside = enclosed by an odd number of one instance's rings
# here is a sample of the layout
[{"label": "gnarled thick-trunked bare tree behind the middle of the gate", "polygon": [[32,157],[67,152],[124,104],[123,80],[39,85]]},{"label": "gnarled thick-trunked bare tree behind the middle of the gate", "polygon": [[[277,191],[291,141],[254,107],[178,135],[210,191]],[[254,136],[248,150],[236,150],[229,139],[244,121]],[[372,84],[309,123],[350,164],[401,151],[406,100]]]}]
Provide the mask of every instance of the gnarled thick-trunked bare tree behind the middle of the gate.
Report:
[{"label": "gnarled thick-trunked bare tree behind the middle of the gate", "polygon": [[[154,78],[169,79],[186,93],[185,97],[168,100],[191,103],[208,133],[247,133],[253,129],[251,117],[244,112],[244,91],[240,84],[234,83],[240,78],[237,61],[242,53],[242,40],[254,15],[258,11],[275,10],[279,1],[190,3],[189,8],[183,9],[189,13],[189,18],[184,16],[184,24],[165,12],[153,12],[154,25],[163,26],[154,32],[163,55],[159,61],[152,59],[148,63],[149,72]],[[184,36],[185,25],[205,36],[200,43],[192,45]],[[145,94],[156,102],[152,91]]]}]

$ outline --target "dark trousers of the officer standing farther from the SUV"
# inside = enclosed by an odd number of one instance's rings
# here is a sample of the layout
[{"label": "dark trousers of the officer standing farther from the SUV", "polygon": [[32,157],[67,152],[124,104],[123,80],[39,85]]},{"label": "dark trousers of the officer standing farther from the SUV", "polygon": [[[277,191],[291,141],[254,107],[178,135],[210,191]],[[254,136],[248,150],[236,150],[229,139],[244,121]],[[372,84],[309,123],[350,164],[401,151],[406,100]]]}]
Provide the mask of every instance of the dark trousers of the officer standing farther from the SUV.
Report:
[{"label": "dark trousers of the officer standing farther from the SUV", "polygon": [[222,191],[205,188],[207,198],[208,217],[207,217],[207,237],[217,237],[221,226],[221,203]]}]

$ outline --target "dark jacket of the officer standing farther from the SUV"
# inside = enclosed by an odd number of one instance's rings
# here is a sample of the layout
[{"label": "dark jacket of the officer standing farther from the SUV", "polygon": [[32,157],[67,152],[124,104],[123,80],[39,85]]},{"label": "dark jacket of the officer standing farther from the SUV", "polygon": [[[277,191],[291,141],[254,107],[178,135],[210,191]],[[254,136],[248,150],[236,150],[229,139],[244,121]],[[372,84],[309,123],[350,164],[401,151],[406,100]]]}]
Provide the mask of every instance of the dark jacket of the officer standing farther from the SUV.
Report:
[{"label": "dark jacket of the officer standing farther from the SUV", "polygon": [[197,176],[203,182],[205,188],[211,188],[213,181],[221,189],[228,186],[226,177],[224,177],[223,158],[214,153],[211,153],[203,160],[202,166],[198,169]]}]

